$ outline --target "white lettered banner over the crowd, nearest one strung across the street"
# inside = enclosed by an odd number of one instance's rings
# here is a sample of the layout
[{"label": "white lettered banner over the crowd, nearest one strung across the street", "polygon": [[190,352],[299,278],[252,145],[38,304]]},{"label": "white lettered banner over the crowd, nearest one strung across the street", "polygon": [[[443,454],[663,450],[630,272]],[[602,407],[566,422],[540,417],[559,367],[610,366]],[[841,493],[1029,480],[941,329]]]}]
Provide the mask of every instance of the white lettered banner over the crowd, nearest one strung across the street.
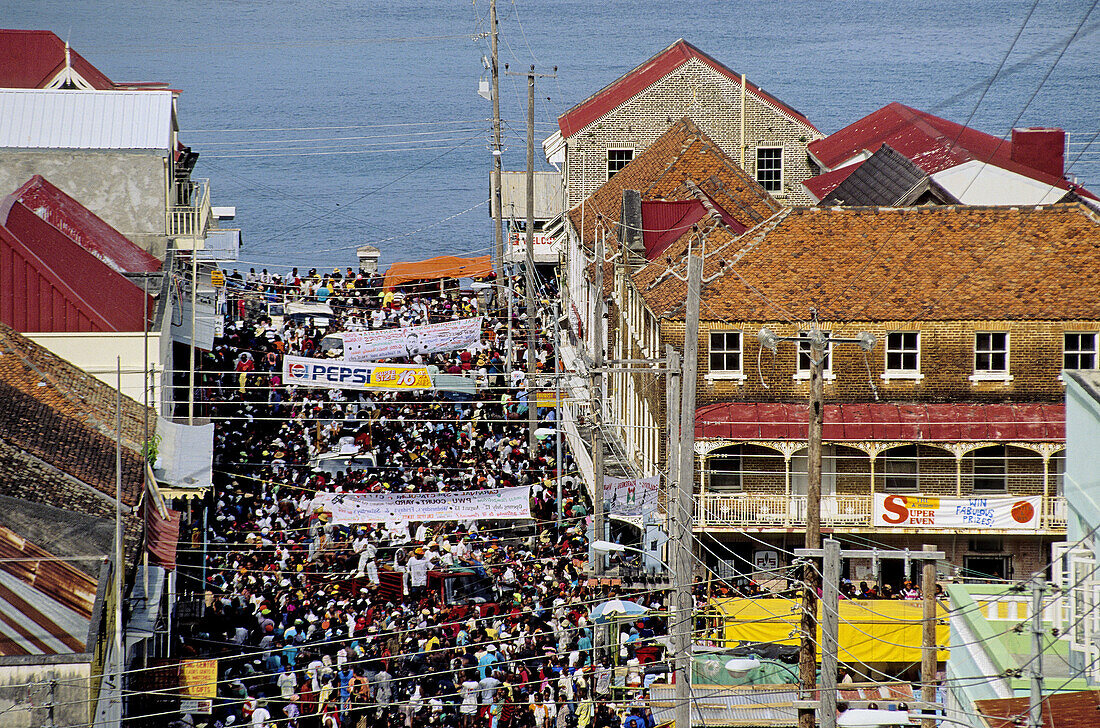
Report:
[{"label": "white lettered banner over the crowd, nearest one strung across the street", "polygon": [[318,493],[312,507],[331,514],[333,523],[531,517],[530,487],[526,485],[454,493]]}]

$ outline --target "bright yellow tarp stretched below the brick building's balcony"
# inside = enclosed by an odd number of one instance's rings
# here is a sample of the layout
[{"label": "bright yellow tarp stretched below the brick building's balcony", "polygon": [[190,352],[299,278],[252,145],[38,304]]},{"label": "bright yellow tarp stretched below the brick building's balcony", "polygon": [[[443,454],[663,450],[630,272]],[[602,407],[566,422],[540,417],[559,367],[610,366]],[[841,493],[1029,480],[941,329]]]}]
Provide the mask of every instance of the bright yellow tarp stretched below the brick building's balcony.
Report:
[{"label": "bright yellow tarp stretched below the brick building's balcony", "polygon": [[[801,605],[791,599],[714,599],[715,638],[724,647],[740,641],[798,644]],[[840,600],[840,662],[919,662],[921,660],[922,603],[897,599]],[[947,610],[937,604],[936,643],[947,644]],[[817,640],[821,644],[822,608],[817,607]],[[792,636],[793,635],[793,636]],[[937,660],[947,660],[941,650]]]}]

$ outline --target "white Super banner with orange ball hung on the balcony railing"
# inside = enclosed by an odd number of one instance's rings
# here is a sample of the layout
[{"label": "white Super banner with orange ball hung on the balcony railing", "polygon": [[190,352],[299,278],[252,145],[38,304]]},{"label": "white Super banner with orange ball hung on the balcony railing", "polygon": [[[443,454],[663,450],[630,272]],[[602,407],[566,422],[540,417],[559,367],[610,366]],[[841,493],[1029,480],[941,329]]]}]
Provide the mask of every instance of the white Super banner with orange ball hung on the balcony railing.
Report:
[{"label": "white Super banner with orange ball hung on the balcony railing", "polygon": [[941,498],[876,493],[873,523],[887,528],[1034,531],[1042,507],[1042,496]]}]

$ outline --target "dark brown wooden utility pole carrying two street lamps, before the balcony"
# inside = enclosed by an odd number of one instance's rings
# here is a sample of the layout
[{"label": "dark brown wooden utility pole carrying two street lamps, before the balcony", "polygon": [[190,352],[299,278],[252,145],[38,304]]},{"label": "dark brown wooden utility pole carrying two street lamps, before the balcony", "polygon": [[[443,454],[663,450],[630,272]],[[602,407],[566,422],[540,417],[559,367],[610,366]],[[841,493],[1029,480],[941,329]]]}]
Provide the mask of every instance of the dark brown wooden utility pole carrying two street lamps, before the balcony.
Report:
[{"label": "dark brown wooden utility pole carrying two street lamps, before the balcony", "polygon": [[[810,426],[806,489],[806,549],[822,544],[822,422],[825,415],[825,335],[817,328],[814,316],[810,331]],[[817,585],[820,584],[815,559],[807,558],[802,566],[802,643],[799,649],[799,687],[802,701],[813,701],[817,687]],[[814,728],[814,708],[799,708],[799,728]]]}]

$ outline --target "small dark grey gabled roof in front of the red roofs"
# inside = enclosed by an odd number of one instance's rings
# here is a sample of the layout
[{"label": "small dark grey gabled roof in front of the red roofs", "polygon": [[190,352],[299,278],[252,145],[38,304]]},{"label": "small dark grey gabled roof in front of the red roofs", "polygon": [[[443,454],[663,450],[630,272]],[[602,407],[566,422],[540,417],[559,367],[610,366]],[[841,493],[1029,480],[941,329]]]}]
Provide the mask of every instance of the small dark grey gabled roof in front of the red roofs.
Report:
[{"label": "small dark grey gabled roof in front of the red roofs", "polygon": [[[927,190],[930,185],[934,183],[927,173],[889,144],[883,144],[826,195],[822,205],[904,207],[911,203],[909,198],[914,192]],[[958,202],[945,190],[935,191],[942,202]]]}]

